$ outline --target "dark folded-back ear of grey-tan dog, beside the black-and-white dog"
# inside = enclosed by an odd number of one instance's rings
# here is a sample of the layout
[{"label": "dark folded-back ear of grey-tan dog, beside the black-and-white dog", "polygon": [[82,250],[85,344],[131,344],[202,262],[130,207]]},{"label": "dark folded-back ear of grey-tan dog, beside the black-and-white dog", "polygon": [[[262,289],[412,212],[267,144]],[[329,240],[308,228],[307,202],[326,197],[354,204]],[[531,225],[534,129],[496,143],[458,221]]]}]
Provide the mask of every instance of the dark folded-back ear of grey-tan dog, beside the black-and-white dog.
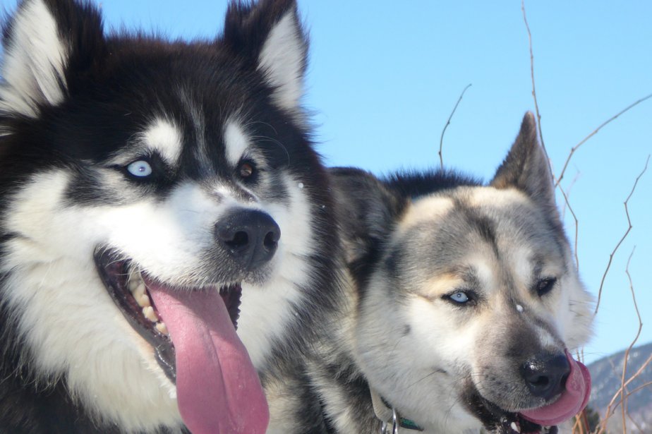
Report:
[{"label": "dark folded-back ear of grey-tan dog, beside the black-and-white dog", "polygon": [[373,267],[380,259],[405,200],[368,171],[339,167],[329,173],[346,262],[354,274],[364,274],[360,267]]}]

